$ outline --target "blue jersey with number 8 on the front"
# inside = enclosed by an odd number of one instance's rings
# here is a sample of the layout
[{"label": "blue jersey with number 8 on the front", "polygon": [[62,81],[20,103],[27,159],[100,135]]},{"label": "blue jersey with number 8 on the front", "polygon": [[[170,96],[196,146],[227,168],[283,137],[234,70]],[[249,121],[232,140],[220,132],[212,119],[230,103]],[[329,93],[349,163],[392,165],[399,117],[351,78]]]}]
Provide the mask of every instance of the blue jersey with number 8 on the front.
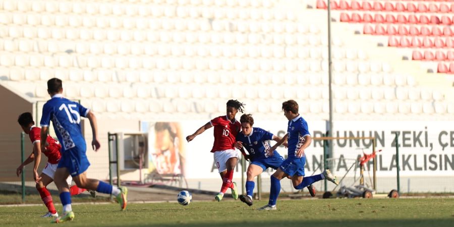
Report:
[{"label": "blue jersey with number 8 on the front", "polygon": [[268,140],[273,139],[273,134],[267,132],[261,128],[252,128],[251,134],[248,136],[244,135],[243,132],[239,132],[236,140],[243,143],[243,147],[252,155],[254,158],[267,158],[268,150],[271,146]]}]

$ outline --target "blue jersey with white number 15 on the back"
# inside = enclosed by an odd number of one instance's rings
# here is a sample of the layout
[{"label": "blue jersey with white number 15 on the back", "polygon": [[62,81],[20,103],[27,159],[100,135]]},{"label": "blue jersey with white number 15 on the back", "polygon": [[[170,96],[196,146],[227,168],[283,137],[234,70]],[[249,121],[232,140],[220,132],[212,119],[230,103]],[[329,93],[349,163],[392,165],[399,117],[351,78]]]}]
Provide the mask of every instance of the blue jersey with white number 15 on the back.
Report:
[{"label": "blue jersey with white number 15 on the back", "polygon": [[80,129],[80,117],[86,117],[89,109],[56,94],[42,108],[41,127],[53,123],[55,134],[62,144],[63,151],[74,147],[86,147]]}]

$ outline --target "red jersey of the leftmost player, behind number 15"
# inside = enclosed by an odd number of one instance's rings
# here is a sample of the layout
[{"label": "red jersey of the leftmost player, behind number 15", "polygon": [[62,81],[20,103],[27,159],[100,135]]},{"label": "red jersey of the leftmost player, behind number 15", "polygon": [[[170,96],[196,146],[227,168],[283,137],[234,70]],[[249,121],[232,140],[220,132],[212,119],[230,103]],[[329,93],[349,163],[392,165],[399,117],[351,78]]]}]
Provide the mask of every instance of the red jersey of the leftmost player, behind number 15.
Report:
[{"label": "red jersey of the leftmost player, behind number 15", "polygon": [[[40,142],[41,128],[32,126],[30,129],[29,136],[33,144],[35,144],[36,142]],[[41,152],[47,156],[47,162],[51,164],[59,163],[61,157],[60,148],[62,148],[62,145],[60,145],[59,141],[56,141],[49,135],[47,135],[46,142],[47,142],[46,149],[42,150]]]}]

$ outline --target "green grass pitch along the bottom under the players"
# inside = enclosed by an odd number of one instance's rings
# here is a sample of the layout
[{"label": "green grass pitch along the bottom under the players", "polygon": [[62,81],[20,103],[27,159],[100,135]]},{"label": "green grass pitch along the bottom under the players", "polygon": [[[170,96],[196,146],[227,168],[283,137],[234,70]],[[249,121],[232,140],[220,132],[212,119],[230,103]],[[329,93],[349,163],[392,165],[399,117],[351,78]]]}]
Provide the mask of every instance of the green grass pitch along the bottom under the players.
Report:
[{"label": "green grass pitch along the bottom under the players", "polygon": [[[453,226],[454,199],[313,199],[281,200],[278,210],[258,211],[240,201],[73,205],[66,226]],[[62,206],[57,206],[61,211]],[[0,207],[0,226],[52,226],[40,218],[44,206]]]}]

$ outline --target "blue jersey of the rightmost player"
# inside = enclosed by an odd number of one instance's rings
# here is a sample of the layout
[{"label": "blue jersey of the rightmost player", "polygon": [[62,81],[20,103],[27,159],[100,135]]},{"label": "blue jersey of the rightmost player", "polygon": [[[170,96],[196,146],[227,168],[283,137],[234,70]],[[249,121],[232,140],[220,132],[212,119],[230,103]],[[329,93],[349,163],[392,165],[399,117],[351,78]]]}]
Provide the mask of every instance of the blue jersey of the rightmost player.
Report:
[{"label": "blue jersey of the rightmost player", "polygon": [[310,136],[309,129],[307,128],[307,122],[303,117],[298,116],[293,120],[289,121],[289,127],[287,128],[289,134],[289,157],[295,157],[298,148],[300,148],[306,141],[305,136]]}]

